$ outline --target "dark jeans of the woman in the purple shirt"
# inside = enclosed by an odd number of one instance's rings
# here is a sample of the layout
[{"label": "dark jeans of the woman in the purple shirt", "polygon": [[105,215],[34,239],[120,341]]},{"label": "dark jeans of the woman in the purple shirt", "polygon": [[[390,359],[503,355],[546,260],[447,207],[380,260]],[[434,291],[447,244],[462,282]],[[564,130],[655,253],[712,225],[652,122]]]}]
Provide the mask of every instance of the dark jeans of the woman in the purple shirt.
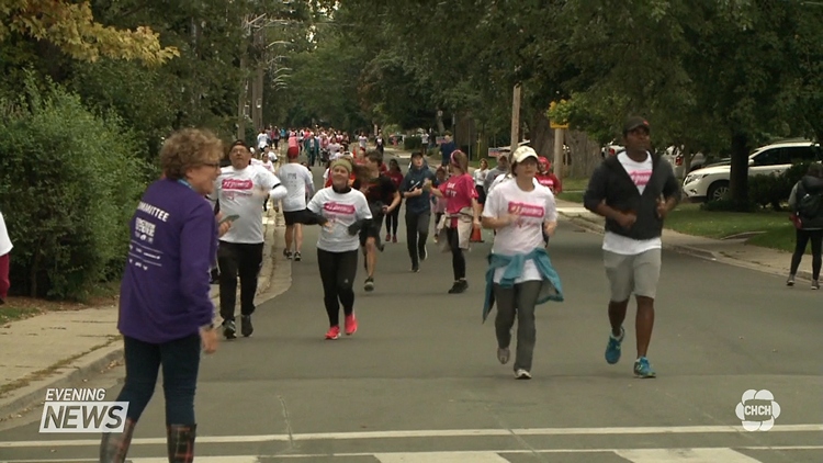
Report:
[{"label": "dark jeans of the woman in the purple shirt", "polygon": [[157,374],[162,368],[166,395],[166,424],[194,425],[194,391],[200,370],[200,335],[155,345],[123,337],[126,382],[117,402],[127,402],[127,417],[140,419],[155,393]]}]

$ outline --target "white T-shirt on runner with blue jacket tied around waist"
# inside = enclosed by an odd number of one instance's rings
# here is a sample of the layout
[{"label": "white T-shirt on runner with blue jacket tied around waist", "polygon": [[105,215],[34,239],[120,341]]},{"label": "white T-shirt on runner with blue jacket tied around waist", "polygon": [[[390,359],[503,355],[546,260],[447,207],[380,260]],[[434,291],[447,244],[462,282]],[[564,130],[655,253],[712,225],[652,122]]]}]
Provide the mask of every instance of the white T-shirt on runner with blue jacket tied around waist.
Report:
[{"label": "white T-shirt on runner with blue jacket tied around waist", "polygon": [[[543,224],[557,221],[557,206],[552,191],[540,184],[532,191],[522,191],[517,182],[498,184],[486,199],[484,217],[500,218],[518,214],[520,219],[512,225],[498,228],[492,252],[501,256],[526,255],[543,247]],[[495,270],[494,281],[499,283],[505,268]],[[523,264],[523,273],[515,284],[542,280],[532,260]]]}]

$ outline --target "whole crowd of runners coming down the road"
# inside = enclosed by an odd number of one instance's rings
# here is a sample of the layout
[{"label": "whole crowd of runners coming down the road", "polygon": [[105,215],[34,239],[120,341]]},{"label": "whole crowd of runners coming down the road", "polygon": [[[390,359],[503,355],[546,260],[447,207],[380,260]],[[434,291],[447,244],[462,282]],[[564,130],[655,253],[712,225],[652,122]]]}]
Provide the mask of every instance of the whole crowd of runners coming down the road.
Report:
[{"label": "whole crowd of runners coming down the road", "polygon": [[[586,206],[607,217],[604,259],[611,285],[611,334],[606,360],[617,363],[620,358],[622,324],[629,298],[635,294],[639,332],[633,370],[639,376],[653,377],[655,372],[645,354],[659,274],[659,233],[662,217],[677,204],[679,188],[670,169],[649,153],[649,125],[644,120],[629,120],[624,137],[631,148],[595,172]],[[288,142],[281,150],[279,140],[283,138]],[[363,290],[375,291],[379,256],[385,242],[397,242],[404,208],[409,270],[420,271],[431,237],[440,251],[451,255],[453,281],[449,294],[467,290],[464,253],[472,241],[482,240],[482,228],[494,230],[483,282],[484,318],[496,306],[497,358],[504,364],[509,360],[510,332],[517,320],[514,370],[518,379],[531,377],[534,306],[563,301],[562,284],[546,251],[557,221],[554,195],[562,191],[562,184],[546,158],[521,146],[510,156],[499,156],[492,169],[485,159],[470,169],[467,156],[447,134],[440,166],[429,167],[424,148],[412,154],[404,173],[396,158],[384,161],[381,133],[370,140],[364,133],[354,138],[335,129],[270,127],[260,132],[257,144],[255,155],[253,147],[235,143],[229,154],[232,165],[222,169],[210,196],[216,210],[243,217],[221,238],[218,250],[225,338],[233,339],[237,332],[234,307],[238,276],[240,334],[248,337],[253,331],[251,315],[263,242],[261,214],[269,201],[283,211],[286,259],[302,260],[303,226],[320,227],[317,264],[329,321],[325,338],[329,340],[358,330],[353,286],[361,256]],[[325,169],[319,189],[311,170],[316,165]],[[620,176],[616,180],[619,170],[628,173],[623,176],[625,182],[619,181]],[[644,193],[650,182],[650,192],[654,193],[651,205]],[[616,188],[620,188],[617,195]]]}]

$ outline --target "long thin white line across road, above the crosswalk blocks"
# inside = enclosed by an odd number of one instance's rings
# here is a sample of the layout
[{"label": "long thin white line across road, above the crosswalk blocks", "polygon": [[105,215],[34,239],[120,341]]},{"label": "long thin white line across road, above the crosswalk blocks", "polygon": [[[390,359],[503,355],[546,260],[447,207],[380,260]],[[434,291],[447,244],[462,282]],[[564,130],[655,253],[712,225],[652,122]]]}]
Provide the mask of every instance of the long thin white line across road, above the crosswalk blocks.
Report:
[{"label": "long thin white line across road, above the crosswalk blocks", "polygon": [[[777,425],[769,430],[775,432],[823,432],[821,425]],[[621,436],[621,434],[723,434],[748,433],[741,426],[661,426],[627,428],[534,428],[534,429],[436,429],[409,431],[364,431],[364,432],[316,432],[303,434],[261,436],[204,436],[198,443],[251,443],[323,440],[369,440],[369,439],[412,439],[412,438],[458,438],[458,437],[506,437],[506,436]],[[165,444],[166,438],[143,438],[132,440],[132,445]],[[35,440],[0,442],[0,449],[42,447],[94,447],[100,439]]]}]

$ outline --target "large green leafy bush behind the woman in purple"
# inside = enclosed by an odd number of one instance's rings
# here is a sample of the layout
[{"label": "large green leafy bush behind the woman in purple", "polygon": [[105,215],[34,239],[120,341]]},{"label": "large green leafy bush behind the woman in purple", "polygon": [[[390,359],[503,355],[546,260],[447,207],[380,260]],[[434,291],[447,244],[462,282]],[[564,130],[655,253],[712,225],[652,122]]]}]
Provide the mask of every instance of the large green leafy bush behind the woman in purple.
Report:
[{"label": "large green leafy bush behind the woman in purple", "polygon": [[82,301],[122,272],[149,168],[120,121],[91,114],[77,95],[54,84],[41,93],[30,83],[22,100],[14,115],[0,115],[12,289]]}]

